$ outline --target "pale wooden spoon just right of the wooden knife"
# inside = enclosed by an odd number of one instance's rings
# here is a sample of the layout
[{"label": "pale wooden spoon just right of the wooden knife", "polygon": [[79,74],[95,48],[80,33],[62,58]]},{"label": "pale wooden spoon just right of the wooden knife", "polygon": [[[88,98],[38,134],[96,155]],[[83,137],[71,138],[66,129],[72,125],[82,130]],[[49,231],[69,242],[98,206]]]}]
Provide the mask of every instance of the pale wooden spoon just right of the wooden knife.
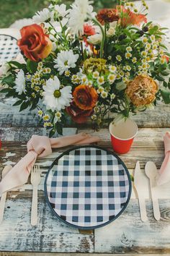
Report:
[{"label": "pale wooden spoon just right of the wooden knife", "polygon": [[150,181],[150,189],[151,189],[151,198],[152,198],[152,204],[153,204],[153,215],[156,221],[159,221],[161,218],[160,209],[158,205],[158,198],[154,195],[154,186],[156,184],[156,176],[157,176],[157,168],[155,163],[149,161],[146,163],[145,167],[146,176],[148,176],[148,179]]}]

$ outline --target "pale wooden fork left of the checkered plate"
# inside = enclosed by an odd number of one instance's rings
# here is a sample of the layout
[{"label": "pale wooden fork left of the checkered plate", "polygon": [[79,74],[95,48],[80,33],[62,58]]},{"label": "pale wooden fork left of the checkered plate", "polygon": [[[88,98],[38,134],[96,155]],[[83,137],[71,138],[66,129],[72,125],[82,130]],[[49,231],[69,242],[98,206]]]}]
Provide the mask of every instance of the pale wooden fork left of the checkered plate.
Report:
[{"label": "pale wooden fork left of the checkered plate", "polygon": [[33,166],[31,171],[32,184],[32,209],[31,209],[31,225],[37,225],[37,188],[40,184],[40,166]]}]

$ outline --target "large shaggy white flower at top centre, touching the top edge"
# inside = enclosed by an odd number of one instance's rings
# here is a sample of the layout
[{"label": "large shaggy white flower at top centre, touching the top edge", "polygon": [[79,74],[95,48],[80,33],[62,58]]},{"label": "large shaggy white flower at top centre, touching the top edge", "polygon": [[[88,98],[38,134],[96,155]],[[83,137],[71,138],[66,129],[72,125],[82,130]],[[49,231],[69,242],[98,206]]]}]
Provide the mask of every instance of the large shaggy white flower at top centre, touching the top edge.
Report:
[{"label": "large shaggy white flower at top centre, touching the top edge", "polygon": [[84,22],[94,17],[93,7],[89,0],[76,0],[68,14],[68,27],[71,33],[79,35],[84,33]]}]

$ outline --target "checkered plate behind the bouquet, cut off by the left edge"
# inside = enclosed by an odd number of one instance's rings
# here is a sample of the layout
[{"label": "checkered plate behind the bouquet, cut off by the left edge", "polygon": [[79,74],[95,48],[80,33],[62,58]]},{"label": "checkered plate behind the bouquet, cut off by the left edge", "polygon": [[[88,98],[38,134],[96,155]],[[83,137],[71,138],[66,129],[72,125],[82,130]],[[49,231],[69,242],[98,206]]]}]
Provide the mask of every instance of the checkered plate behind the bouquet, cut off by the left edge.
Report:
[{"label": "checkered plate behind the bouquet, cut off by the left edge", "polygon": [[0,35],[0,66],[15,59],[18,54],[17,39],[10,35]]}]

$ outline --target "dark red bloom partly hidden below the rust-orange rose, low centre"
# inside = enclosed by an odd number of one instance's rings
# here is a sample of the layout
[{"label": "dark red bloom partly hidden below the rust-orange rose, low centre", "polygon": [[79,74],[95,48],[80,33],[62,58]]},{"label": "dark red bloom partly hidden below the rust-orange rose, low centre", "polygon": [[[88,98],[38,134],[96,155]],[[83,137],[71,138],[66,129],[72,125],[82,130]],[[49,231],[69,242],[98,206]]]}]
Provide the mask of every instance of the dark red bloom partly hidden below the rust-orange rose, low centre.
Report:
[{"label": "dark red bloom partly hidden below the rust-orange rose, low centre", "polygon": [[66,108],[66,112],[71,116],[73,121],[77,124],[83,124],[87,121],[89,116],[93,113],[93,108],[90,110],[82,110],[74,102],[71,103],[71,106]]}]

